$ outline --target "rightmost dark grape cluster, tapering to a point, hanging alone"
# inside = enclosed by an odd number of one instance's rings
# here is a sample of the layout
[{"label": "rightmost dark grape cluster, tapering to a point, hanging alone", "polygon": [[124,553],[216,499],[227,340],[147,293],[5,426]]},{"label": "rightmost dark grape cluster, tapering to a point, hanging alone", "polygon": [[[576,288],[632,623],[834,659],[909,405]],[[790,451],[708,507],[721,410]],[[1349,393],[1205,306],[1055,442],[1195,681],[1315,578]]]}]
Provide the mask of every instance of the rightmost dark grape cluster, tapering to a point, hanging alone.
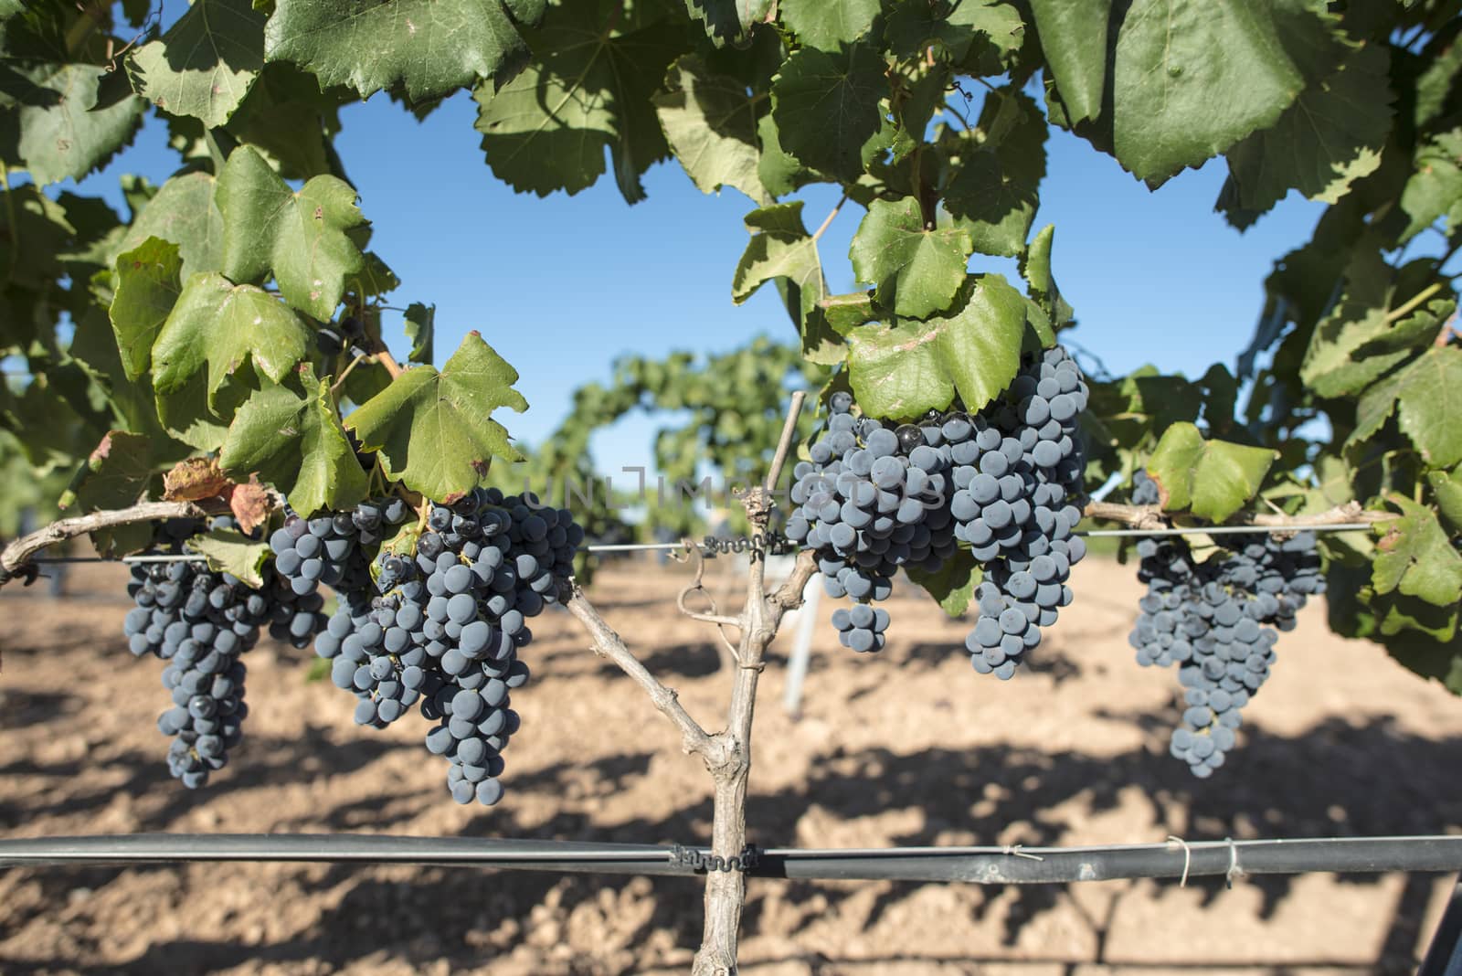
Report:
[{"label": "rightmost dark grape cluster, tapering to a point, hanging alone", "polygon": [[[1145,472],[1136,504],[1156,504]],[[1129,643],[1137,663],[1178,666],[1183,717],[1170,751],[1199,777],[1212,776],[1235,744],[1241,712],[1275,663],[1278,631],[1325,592],[1314,533],[1225,536],[1228,551],[1197,561],[1180,536],[1137,544],[1137,579],[1148,584]]]}]

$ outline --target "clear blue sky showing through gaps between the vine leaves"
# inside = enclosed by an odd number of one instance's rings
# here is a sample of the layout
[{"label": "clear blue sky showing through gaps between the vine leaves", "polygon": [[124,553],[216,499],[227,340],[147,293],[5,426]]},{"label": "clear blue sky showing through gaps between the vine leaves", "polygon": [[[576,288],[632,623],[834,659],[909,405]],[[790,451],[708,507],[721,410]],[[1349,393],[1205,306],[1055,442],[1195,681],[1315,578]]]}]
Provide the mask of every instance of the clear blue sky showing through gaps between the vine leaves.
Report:
[{"label": "clear blue sky showing through gaps between the vine leaves", "polygon": [[[747,240],[741,216],[754,206],[738,191],[703,196],[671,161],[651,169],[649,199],[633,207],[613,178],[575,197],[519,196],[487,168],[474,118],[465,94],[423,123],[377,95],[344,110],[336,146],[374,224],[373,247],[404,282],[393,304],[437,305],[439,365],[477,329],[522,374],[531,409],[499,416],[516,438],[545,437],[575,387],[608,378],[618,355],[725,351],[757,333],[794,338],[770,286],[731,304]],[[1221,161],[1149,193],[1073,136],[1053,131],[1048,149],[1037,226],[1056,224],[1054,273],[1080,320],[1069,335],[1114,373],[1155,362],[1196,375],[1215,361],[1232,364],[1270,263],[1308,238],[1322,206],[1291,194],[1238,234],[1212,210]],[[152,120],[82,190],[123,209],[120,174],[161,183],[177,164]],[[836,200],[830,187],[803,196],[808,226]],[[846,253],[860,219],[848,205],[822,238],[833,291],[855,286]],[[1015,275],[1013,262],[978,256],[972,269]],[[386,321],[390,329],[399,317]],[[387,340],[404,345],[399,332]],[[601,434],[601,468],[646,463],[655,427],[636,419]]]}]

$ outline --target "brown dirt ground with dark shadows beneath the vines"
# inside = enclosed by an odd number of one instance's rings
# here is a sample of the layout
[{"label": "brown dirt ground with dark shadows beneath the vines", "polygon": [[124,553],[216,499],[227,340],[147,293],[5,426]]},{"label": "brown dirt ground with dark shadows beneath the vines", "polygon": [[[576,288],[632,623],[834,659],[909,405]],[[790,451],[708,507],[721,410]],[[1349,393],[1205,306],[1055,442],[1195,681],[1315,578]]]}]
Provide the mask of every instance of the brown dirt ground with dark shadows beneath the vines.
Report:
[{"label": "brown dirt ground with dark shadows beneath the vines", "polygon": [[[722,564],[728,560],[722,560]],[[1209,782],[1165,754],[1171,672],[1132,662],[1139,586],[1089,560],[1076,603],[1009,684],[971,672],[963,628],[909,593],[879,656],[820,622],[804,713],[763,678],[749,823],[765,846],[1082,845],[1462,830],[1462,703],[1311,606]],[[602,571],[605,617],[699,716],[727,676],[678,617],[683,573]],[[0,831],[361,831],[610,842],[708,836],[708,779],[639,691],[561,612],[535,621],[535,681],[507,798],[458,807],[420,720],[371,732],[354,698],[304,679],[308,652],[250,653],[247,739],[215,783],[168,779],[155,660],[120,637],[123,571],[70,595],[0,595]],[[41,587],[35,587],[39,590]],[[728,602],[734,602],[728,598]],[[826,617],[823,602],[819,615]],[[713,720],[706,717],[708,725]],[[1382,973],[1424,951],[1450,890],[1436,875],[1118,881],[1072,887],[753,880],[744,972]],[[700,926],[689,880],[409,866],[194,865],[0,872],[6,973],[674,973]]]}]

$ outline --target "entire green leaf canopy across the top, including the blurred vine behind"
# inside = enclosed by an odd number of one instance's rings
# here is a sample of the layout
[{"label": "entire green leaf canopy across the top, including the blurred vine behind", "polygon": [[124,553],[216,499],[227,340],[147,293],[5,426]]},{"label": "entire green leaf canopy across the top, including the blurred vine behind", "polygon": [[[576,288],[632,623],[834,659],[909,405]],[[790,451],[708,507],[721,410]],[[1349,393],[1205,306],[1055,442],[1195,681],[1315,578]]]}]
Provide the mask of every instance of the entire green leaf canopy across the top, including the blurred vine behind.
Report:
[{"label": "entire green leaf canopy across the top, including the blurred vine behind", "polygon": [[[1075,324],[1056,226],[1034,226],[1056,126],[1156,193],[1222,156],[1219,216],[1194,219],[1327,205],[1234,368],[1095,377],[1086,485],[1146,470],[1184,526],[1366,513],[1373,532],[1320,544],[1330,625],[1462,693],[1459,0],[196,0],[165,32],[158,13],[0,0],[0,507],[60,478],[64,514],[127,508],[196,457],[301,514],[392,487],[443,501],[583,478],[592,430],[637,409],[689,412],[655,446],[668,479],[757,478],[792,389],[895,424],[978,411]],[[415,302],[408,361],[386,352],[390,253],[414,243],[373,240],[333,148],[349,102],[424,115],[463,89],[518,191],[608,177],[633,205],[674,158],[744,194],[731,298],[775,288],[787,342],[624,359],[515,468],[500,408],[528,405],[482,336],[434,365]],[[148,115],[178,168],[123,177],[127,213],[56,187]],[[804,213],[820,183],[842,203]],[[867,288],[838,295],[819,241],[844,209]],[[611,516],[585,513],[589,536]],[[969,602],[968,579],[927,582]]]}]

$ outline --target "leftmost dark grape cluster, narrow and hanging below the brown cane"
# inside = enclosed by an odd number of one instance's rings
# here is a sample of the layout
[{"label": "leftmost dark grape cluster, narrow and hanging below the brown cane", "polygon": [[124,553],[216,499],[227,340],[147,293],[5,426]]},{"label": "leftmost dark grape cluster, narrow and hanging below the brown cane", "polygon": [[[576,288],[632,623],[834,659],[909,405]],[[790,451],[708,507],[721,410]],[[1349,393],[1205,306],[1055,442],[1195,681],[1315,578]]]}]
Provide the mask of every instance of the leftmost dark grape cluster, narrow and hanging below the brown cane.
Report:
[{"label": "leftmost dark grape cluster, narrow and hanging below the brown cane", "polygon": [[[155,548],[186,554],[184,541],[202,527],[181,519],[165,522],[156,529]],[[232,520],[216,519],[215,527],[232,527]],[[240,656],[257,643],[262,627],[275,638],[308,644],[325,621],[323,598],[298,595],[278,577],[253,590],[230,573],[192,561],[135,564],[127,593],[136,603],[123,621],[132,653],[167,662],[162,687],[173,707],[158,719],[158,729],[173,736],[168,770],[190,789],[202,786],[243,736],[249,706]]]}]

